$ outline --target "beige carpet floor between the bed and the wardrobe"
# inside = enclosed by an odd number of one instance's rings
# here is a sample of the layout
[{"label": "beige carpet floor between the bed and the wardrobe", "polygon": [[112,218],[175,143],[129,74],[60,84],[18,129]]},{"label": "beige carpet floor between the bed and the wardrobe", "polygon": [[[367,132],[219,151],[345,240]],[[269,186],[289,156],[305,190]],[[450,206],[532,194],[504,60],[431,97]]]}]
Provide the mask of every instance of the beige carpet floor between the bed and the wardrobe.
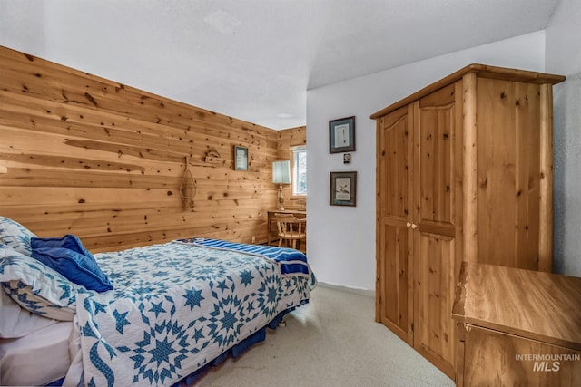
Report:
[{"label": "beige carpet floor between the bed and the wardrobe", "polygon": [[374,321],[372,297],[319,285],[238,359],[195,387],[453,386],[446,374]]}]

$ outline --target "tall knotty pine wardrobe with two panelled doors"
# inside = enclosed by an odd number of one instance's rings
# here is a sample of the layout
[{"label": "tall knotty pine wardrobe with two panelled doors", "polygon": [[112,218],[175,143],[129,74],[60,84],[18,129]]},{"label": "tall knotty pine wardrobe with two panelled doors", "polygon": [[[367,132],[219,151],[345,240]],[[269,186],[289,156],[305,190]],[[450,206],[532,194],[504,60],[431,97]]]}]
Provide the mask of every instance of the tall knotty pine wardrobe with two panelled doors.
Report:
[{"label": "tall knotty pine wardrobe with two panelled doors", "polygon": [[377,121],[376,321],[452,379],[462,261],[552,269],[559,75],[470,64]]}]

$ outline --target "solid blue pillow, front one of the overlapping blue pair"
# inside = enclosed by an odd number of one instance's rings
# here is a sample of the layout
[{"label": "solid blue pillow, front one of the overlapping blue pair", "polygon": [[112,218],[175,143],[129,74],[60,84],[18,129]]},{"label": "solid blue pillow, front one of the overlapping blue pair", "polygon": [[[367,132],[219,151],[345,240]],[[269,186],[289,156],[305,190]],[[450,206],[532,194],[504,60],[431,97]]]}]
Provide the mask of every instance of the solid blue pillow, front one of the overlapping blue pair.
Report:
[{"label": "solid blue pillow, front one of the overlapping blue pair", "polygon": [[89,290],[106,292],[113,289],[94,256],[84,256],[65,247],[39,247],[33,248],[33,258]]}]

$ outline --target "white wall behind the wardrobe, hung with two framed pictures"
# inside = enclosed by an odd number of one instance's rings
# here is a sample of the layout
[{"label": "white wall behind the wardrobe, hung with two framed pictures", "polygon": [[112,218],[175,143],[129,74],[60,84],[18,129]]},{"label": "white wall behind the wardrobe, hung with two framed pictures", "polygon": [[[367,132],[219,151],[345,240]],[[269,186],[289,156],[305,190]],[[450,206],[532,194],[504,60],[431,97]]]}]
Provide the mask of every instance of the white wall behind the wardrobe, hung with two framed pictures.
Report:
[{"label": "white wall behind the wardrobe, hung with two framed pictures", "polygon": [[[378,44],[379,47],[379,44]],[[380,47],[379,47],[380,49]],[[308,244],[320,282],[375,289],[375,121],[369,115],[469,63],[545,71],[545,33],[439,56],[307,92]],[[356,116],[351,164],[329,153],[329,121]],[[358,172],[357,207],[329,205],[330,172]]]}]

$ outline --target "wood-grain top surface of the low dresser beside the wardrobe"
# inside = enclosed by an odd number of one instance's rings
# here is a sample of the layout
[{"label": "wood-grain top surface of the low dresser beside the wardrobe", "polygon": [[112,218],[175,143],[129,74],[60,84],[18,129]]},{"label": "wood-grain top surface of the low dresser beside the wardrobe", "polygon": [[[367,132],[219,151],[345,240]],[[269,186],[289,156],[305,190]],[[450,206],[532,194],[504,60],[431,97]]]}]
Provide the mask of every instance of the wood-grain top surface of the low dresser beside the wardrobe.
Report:
[{"label": "wood-grain top surface of the low dresser beside the wardrobe", "polygon": [[463,262],[452,317],[581,350],[581,278]]}]

